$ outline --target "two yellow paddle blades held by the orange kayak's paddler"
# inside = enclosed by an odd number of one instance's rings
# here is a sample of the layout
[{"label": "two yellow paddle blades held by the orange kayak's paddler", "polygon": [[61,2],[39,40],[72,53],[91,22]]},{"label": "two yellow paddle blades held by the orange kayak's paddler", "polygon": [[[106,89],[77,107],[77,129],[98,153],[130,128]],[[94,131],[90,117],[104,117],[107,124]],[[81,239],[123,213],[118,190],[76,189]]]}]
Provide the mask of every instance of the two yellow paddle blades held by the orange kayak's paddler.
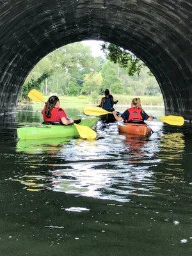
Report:
[{"label": "two yellow paddle blades held by the orange kayak's paddler", "polygon": [[[101,115],[113,114],[113,113],[99,107],[86,106],[84,108],[84,114],[92,115],[92,116],[101,116]],[[170,125],[182,126],[184,124],[184,118],[182,116],[169,115],[169,116],[162,116],[157,119]]]}]

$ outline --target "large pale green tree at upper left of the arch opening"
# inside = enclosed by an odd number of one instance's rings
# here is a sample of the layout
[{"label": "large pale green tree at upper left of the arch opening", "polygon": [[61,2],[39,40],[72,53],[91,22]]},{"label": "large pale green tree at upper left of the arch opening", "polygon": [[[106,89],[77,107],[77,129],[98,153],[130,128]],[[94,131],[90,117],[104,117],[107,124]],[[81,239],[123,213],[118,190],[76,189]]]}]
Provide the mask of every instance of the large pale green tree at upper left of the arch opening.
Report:
[{"label": "large pale green tree at upper left of the arch opening", "polygon": [[[40,88],[42,92],[55,92],[68,94],[74,92],[74,84],[72,90],[69,90],[70,81],[76,84],[76,92],[81,90],[84,83],[84,76],[90,72],[97,70],[98,61],[92,56],[90,47],[82,43],[65,45],[56,51],[45,56],[33,68],[27,77],[24,86],[30,81],[43,76],[44,73],[49,74],[46,80],[41,80]],[[31,80],[32,79],[32,80]],[[35,86],[35,84],[34,84]],[[33,87],[33,83],[31,84]]]}]

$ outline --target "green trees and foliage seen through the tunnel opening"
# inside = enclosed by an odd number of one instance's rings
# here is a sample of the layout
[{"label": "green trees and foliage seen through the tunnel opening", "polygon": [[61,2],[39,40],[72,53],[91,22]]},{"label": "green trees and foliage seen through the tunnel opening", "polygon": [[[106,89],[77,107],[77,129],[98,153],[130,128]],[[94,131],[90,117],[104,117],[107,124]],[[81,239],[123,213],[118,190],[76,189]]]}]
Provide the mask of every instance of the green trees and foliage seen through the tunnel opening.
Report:
[{"label": "green trees and foliage seen through the tunnel opening", "polygon": [[44,94],[91,95],[93,101],[106,88],[122,95],[161,93],[150,70],[131,52],[113,44],[103,44],[102,48],[107,59],[94,58],[90,47],[79,42],[51,52],[27,77],[20,100],[28,100],[33,88]]}]

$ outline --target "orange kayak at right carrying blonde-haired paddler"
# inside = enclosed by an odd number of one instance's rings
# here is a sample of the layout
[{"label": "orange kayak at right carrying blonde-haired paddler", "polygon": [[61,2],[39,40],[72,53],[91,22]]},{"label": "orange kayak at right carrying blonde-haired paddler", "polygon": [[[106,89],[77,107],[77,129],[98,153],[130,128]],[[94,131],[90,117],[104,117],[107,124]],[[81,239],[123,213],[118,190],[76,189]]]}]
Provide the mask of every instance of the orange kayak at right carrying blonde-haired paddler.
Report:
[{"label": "orange kayak at right carrying blonde-haired paddler", "polygon": [[137,135],[150,135],[152,132],[152,129],[147,124],[123,124],[118,125],[118,131],[129,133],[129,134],[137,134]]}]

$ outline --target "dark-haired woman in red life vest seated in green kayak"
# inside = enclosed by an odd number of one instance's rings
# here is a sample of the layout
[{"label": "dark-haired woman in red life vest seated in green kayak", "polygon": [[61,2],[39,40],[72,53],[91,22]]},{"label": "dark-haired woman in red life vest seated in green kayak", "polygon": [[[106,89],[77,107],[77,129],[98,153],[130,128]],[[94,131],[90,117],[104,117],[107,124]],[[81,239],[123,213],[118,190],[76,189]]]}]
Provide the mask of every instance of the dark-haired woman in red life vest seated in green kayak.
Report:
[{"label": "dark-haired woman in red life vest seated in green kayak", "polygon": [[44,122],[50,124],[63,124],[69,125],[74,124],[74,120],[68,118],[65,110],[60,108],[60,100],[57,96],[51,96],[45,102],[45,107],[42,110]]}]

